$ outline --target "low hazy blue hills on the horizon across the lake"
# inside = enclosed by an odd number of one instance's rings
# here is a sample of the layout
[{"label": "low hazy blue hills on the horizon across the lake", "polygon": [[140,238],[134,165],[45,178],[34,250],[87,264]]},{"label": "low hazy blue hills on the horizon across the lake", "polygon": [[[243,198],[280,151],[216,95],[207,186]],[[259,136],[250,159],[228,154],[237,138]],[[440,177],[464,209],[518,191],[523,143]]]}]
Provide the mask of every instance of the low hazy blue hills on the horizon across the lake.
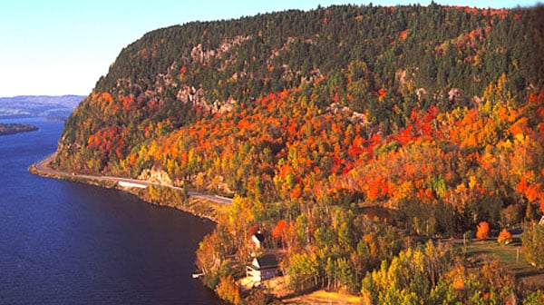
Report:
[{"label": "low hazy blue hills on the horizon across the lake", "polygon": [[66,118],[83,98],[85,98],[83,95],[0,97],[0,118],[32,116]]}]

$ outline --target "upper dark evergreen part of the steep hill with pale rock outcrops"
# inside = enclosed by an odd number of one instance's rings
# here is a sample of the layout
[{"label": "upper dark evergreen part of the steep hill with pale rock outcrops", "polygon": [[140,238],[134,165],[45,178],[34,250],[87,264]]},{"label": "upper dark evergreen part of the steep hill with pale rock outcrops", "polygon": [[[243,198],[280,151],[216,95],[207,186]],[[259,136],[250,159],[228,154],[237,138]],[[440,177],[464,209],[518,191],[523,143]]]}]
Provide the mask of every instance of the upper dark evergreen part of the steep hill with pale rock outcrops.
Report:
[{"label": "upper dark evergreen part of the steep hill with pale rock outcrops", "polygon": [[[320,108],[343,104],[383,133],[413,107],[479,101],[501,74],[523,99],[542,85],[539,20],[536,10],[333,6],[153,31],[122,50],[74,113],[58,161],[111,171],[150,130],[170,133],[302,84],[320,84]],[[92,135],[110,143],[102,153]]]}]

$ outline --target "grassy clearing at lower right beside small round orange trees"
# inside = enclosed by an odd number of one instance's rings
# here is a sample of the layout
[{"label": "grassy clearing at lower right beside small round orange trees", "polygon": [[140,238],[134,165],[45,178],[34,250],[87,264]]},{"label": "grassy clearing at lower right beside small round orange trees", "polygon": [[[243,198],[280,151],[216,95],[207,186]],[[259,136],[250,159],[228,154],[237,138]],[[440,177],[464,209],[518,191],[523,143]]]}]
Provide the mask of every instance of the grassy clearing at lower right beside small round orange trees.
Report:
[{"label": "grassy clearing at lower right beside small round orange trees", "polygon": [[[519,256],[518,251],[520,251]],[[467,242],[467,254],[494,255],[506,265],[518,280],[529,287],[544,289],[544,271],[537,270],[525,260],[520,237],[514,237],[508,245],[500,245],[496,240]]]}]

